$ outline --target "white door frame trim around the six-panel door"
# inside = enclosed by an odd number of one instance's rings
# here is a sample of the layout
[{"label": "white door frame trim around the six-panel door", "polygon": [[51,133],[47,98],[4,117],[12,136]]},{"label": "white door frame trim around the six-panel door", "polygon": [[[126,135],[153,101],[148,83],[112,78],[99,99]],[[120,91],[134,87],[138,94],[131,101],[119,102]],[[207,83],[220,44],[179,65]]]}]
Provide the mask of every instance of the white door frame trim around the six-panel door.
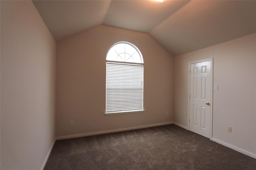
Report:
[{"label": "white door frame trim around the six-panel door", "polygon": [[211,97],[210,97],[210,140],[212,140],[212,107],[213,107],[213,58],[209,58],[209,59],[203,59],[203,60],[199,60],[199,61],[192,61],[188,63],[188,130],[190,130],[190,123],[189,123],[189,111],[190,111],[190,64],[194,64],[194,63],[200,63],[200,62],[204,62],[204,61],[211,61],[211,80],[210,80],[210,84],[211,84]]}]

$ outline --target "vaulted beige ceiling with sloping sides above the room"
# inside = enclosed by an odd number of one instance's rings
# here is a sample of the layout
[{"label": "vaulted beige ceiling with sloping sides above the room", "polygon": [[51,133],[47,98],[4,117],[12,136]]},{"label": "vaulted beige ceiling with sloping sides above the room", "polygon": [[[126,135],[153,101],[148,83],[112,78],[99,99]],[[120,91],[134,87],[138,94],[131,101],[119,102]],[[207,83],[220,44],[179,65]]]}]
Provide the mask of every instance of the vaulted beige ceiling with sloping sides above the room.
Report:
[{"label": "vaulted beige ceiling with sloping sides above the room", "polygon": [[250,0],[34,0],[56,41],[97,25],[151,35],[172,56],[256,33]]}]

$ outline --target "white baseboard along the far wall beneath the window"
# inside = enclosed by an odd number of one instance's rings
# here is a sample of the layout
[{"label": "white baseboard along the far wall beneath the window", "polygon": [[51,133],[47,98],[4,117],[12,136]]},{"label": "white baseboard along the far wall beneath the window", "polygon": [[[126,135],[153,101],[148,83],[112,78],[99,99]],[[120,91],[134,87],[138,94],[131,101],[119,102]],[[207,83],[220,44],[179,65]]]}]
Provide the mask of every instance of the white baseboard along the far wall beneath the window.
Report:
[{"label": "white baseboard along the far wall beneath the window", "polygon": [[60,137],[56,137],[56,140],[71,139],[71,138],[76,138],[76,137],[85,137],[85,136],[92,136],[92,135],[100,135],[100,134],[114,133],[114,132],[121,132],[121,131],[129,131],[129,130],[134,130],[134,129],[154,127],[154,126],[170,125],[172,123],[173,122],[164,122],[164,123],[156,123],[156,124],[152,124],[152,125],[143,125],[143,126],[136,126],[136,127],[127,127],[127,128],[122,128],[122,129],[113,129],[113,130],[108,130],[108,131],[98,131],[98,132],[82,133],[82,134],[77,134],[77,135],[60,136]]}]

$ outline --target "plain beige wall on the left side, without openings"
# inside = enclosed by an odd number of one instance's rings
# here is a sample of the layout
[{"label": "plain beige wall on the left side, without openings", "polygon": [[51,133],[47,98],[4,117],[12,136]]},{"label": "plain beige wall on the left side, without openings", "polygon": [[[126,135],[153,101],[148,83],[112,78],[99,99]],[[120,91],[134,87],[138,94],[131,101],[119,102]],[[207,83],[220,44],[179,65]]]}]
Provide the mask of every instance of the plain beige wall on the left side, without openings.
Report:
[{"label": "plain beige wall on the left side, without openings", "polygon": [[1,169],[42,168],[55,139],[56,44],[31,1],[1,1]]}]

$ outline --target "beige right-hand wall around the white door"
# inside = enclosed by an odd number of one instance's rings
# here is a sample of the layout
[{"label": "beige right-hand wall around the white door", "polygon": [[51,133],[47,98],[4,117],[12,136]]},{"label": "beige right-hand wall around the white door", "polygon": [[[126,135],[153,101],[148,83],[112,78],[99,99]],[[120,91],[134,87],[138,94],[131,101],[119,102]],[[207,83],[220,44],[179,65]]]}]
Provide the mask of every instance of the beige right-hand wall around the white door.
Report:
[{"label": "beige right-hand wall around the white door", "polygon": [[174,121],[188,128],[188,63],[208,58],[219,88],[213,140],[256,158],[256,34],[174,57]]}]

